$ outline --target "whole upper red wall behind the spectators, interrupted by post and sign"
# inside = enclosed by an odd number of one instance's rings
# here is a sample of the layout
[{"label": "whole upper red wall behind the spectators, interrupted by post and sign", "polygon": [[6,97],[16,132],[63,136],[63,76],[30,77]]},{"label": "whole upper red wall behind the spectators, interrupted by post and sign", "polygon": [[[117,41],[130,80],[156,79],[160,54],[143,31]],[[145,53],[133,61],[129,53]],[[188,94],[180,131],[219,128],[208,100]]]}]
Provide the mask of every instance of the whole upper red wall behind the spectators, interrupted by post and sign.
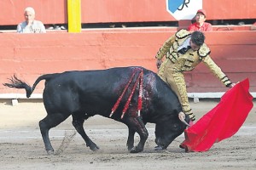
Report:
[{"label": "whole upper red wall behind the spectators, interrupted by post and sign", "polygon": [[[44,24],[67,23],[67,0],[1,0],[0,26],[24,20],[32,6]],[[207,20],[256,19],[255,0],[203,0]],[[82,23],[175,21],[166,11],[166,0],[81,0]]]}]

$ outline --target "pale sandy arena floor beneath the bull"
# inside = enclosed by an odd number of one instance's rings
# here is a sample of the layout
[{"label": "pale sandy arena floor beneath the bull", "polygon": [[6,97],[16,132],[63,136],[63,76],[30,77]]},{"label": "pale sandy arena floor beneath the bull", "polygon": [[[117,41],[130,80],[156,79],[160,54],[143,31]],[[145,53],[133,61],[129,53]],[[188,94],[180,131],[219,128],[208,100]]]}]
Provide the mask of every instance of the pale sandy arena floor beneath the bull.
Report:
[{"label": "pale sandy arena floor beneath the bull", "polygon": [[[77,133],[66,150],[58,156],[48,156],[38,122],[46,116],[41,100],[0,100],[0,169],[256,169],[256,102],[241,129],[230,139],[214,144],[207,152],[185,153],[178,145],[183,135],[175,139],[167,150],[154,150],[154,124],[148,124],[149,138],[142,153],[126,150],[127,127],[102,116],[84,123],[90,138],[100,147],[93,152]],[[204,99],[191,106],[197,120],[218,104],[218,99]],[[64,136],[72,135],[71,118],[52,128],[49,136],[58,151]],[[138,137],[136,138],[138,139]]]}]

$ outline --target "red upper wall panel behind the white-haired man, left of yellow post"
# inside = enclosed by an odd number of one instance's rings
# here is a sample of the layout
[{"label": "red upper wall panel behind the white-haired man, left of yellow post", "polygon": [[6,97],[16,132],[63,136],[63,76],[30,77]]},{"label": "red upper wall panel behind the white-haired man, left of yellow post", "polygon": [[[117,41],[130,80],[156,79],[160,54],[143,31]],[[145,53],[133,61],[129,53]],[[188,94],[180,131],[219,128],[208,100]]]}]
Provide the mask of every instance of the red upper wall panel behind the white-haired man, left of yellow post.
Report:
[{"label": "red upper wall panel behind the white-haired man, left of yellow post", "polygon": [[24,21],[24,9],[32,7],[36,20],[44,24],[67,23],[67,0],[1,0],[0,26],[18,25]]}]

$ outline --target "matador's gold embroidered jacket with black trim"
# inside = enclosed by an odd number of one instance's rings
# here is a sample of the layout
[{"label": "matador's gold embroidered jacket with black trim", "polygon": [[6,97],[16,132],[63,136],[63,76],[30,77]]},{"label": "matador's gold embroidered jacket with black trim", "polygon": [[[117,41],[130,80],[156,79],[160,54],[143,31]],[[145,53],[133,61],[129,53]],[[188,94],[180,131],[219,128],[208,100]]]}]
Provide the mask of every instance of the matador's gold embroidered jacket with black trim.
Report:
[{"label": "matador's gold embroidered jacket with black trim", "polygon": [[230,79],[226,77],[224,72],[211,59],[209,55],[211,51],[207,44],[204,43],[197,51],[193,51],[190,48],[185,54],[177,53],[177,48],[190,35],[190,32],[186,30],[177,31],[175,35],[166,40],[155,58],[162,59],[166,55],[166,59],[170,59],[173,65],[175,65],[176,71],[192,71],[202,61],[226,87],[230,86]]}]

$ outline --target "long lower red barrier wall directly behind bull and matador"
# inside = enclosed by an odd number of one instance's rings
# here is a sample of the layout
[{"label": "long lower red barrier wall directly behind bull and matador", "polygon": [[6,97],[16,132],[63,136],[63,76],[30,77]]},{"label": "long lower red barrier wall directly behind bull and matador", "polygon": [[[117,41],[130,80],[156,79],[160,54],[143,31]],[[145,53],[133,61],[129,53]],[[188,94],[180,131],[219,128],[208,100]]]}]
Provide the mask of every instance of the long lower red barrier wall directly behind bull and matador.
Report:
[{"label": "long lower red barrier wall directly behind bull and matador", "polygon": [[[45,73],[141,65],[156,71],[154,55],[175,31],[110,29],[82,33],[0,34],[0,84],[17,74],[32,84]],[[256,91],[256,31],[206,32],[212,59],[233,82],[246,77]],[[223,92],[224,86],[201,64],[186,74],[189,92]],[[40,82],[36,93],[41,93]],[[0,94],[23,93],[0,86]]]}]

